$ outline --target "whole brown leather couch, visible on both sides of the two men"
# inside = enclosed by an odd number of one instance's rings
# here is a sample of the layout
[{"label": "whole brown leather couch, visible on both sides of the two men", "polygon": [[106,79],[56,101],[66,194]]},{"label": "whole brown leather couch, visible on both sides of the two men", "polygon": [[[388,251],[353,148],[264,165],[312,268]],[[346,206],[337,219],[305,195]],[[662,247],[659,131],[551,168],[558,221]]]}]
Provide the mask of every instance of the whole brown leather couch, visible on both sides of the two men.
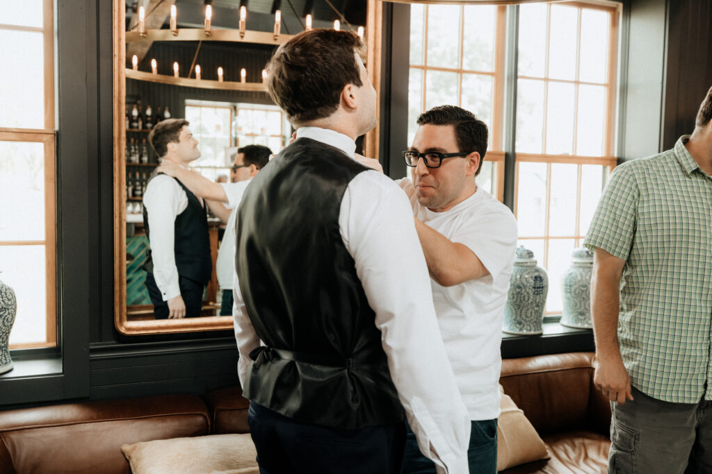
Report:
[{"label": "whole brown leather couch, visible on both sides of the two men", "polygon": [[[610,409],[592,387],[592,354],[503,362],[501,384],[550,446],[550,460],[512,473],[604,472]],[[0,411],[0,473],[128,474],[121,445],[154,439],[246,433],[239,387],[205,399],[164,395]]]}]

